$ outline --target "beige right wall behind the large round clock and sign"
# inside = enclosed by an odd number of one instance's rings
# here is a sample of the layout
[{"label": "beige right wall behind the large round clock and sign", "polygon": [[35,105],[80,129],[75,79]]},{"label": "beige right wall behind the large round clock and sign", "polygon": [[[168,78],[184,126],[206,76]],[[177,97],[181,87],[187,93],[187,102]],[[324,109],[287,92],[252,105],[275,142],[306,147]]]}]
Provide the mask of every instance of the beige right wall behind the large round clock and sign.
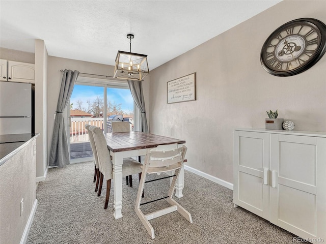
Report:
[{"label": "beige right wall behind the large round clock and sign", "polygon": [[[151,71],[151,133],[185,139],[187,165],[233,182],[233,130],[264,128],[266,110],[296,130],[326,131],[326,55],[292,77],[260,64],[277,27],[303,17],[326,23],[325,12],[326,1],[283,1]],[[167,82],[194,72],[196,101],[167,104]]]}]

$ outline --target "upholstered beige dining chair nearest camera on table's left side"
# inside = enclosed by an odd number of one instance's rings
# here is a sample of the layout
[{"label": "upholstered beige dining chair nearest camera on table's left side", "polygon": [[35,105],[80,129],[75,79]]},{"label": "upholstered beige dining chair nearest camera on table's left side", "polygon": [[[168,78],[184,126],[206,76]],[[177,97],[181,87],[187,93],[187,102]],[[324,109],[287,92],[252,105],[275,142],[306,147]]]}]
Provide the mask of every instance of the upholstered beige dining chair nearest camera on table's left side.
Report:
[{"label": "upholstered beige dining chair nearest camera on table's left side", "polygon": [[[100,183],[98,189],[98,196],[101,195],[103,178],[106,180],[106,196],[104,209],[107,208],[108,199],[110,198],[111,179],[113,179],[113,164],[110,157],[110,150],[107,148],[106,140],[103,132],[96,126],[91,126],[90,130],[93,132],[95,148],[98,157],[98,166],[100,171]],[[122,176],[130,174],[137,174],[142,172],[141,165],[136,160],[123,160]]]}]

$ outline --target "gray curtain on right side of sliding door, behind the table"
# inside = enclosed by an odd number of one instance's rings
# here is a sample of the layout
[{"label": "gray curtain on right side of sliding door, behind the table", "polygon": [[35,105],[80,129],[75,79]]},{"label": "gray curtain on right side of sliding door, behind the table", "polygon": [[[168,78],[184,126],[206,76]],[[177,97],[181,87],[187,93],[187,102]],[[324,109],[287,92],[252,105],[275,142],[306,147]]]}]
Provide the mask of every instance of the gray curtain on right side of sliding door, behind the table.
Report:
[{"label": "gray curtain on right side of sliding door, behind the table", "polygon": [[143,95],[142,81],[127,80],[133,100],[141,111],[141,131],[148,133],[148,125],[146,119],[145,100]]}]

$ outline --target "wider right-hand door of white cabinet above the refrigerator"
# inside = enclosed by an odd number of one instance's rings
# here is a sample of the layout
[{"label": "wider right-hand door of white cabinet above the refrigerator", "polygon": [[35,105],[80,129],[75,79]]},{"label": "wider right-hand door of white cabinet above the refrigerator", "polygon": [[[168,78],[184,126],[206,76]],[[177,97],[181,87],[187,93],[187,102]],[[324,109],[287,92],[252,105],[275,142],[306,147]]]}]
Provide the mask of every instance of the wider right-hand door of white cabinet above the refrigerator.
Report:
[{"label": "wider right-hand door of white cabinet above the refrigerator", "polygon": [[35,65],[8,61],[8,81],[35,83]]}]

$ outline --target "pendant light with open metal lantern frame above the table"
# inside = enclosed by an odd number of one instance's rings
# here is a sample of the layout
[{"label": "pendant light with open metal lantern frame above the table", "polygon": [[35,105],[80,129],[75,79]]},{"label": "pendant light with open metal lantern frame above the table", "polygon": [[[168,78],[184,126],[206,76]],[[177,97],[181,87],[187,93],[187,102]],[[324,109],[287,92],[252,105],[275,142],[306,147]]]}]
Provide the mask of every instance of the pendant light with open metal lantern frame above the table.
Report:
[{"label": "pendant light with open metal lantern frame above the table", "polygon": [[131,39],[134,35],[128,34],[130,40],[130,52],[118,51],[114,78],[143,80],[148,74],[147,55],[131,52]]}]

